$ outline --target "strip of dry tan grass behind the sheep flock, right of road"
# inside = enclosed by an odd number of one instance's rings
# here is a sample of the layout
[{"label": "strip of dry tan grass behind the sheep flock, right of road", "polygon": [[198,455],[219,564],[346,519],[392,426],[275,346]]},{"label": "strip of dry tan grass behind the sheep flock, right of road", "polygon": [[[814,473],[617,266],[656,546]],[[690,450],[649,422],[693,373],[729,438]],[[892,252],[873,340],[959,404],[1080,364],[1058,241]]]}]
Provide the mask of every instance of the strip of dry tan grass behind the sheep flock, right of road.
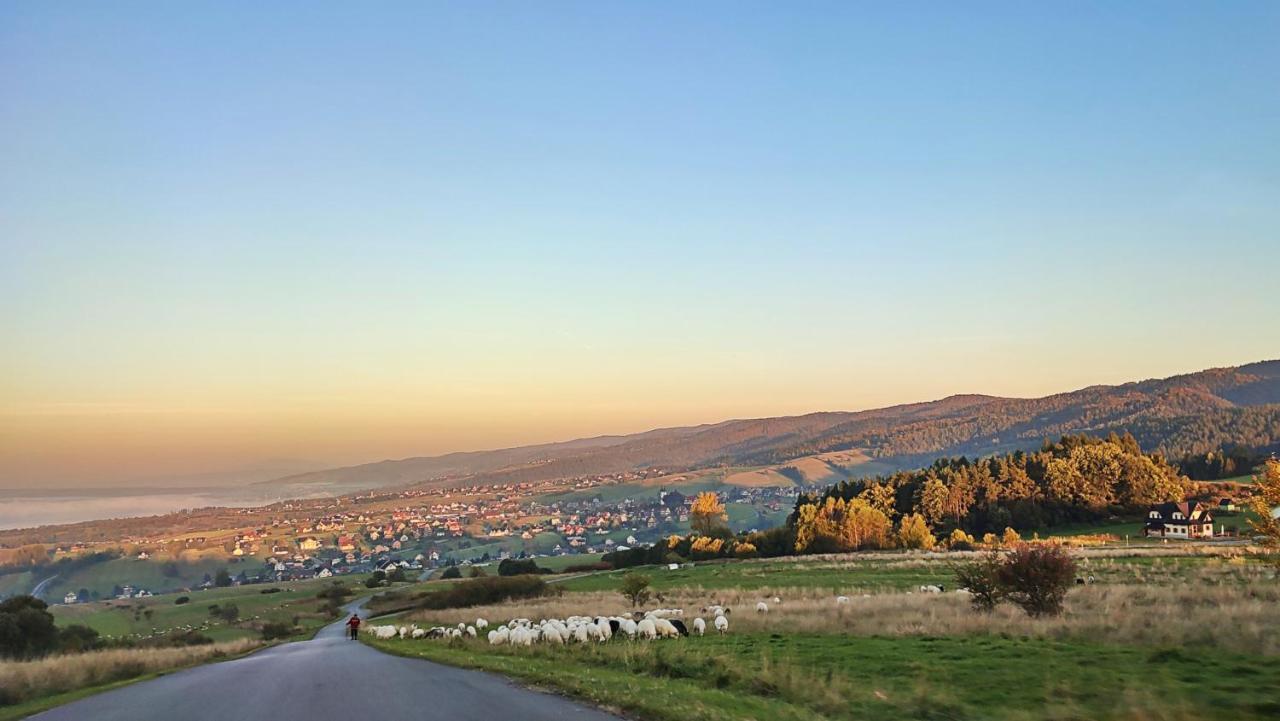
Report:
[{"label": "strip of dry tan grass behind the sheep flock, right of road", "polygon": [[[1107,558],[1088,570],[1105,578]],[[820,589],[678,589],[666,593],[668,608],[684,608],[686,620],[710,603],[730,606],[731,631],[803,631],[847,635],[968,635],[1011,634],[1052,639],[1075,638],[1144,645],[1194,644],[1242,653],[1280,656],[1280,584],[1274,571],[1229,560],[1194,570],[1124,566],[1124,583],[1073,588],[1065,612],[1053,619],[1030,619],[1005,604],[991,615],[975,612],[956,593],[882,593],[854,595],[847,604]],[[1151,576],[1176,574],[1178,583],[1155,583]],[[1117,570],[1116,574],[1120,574]],[[1164,581],[1164,579],[1161,579]],[[852,594],[850,594],[852,595]],[[782,599],[773,603],[773,598]],[[758,601],[768,613],[754,611]],[[618,593],[572,593],[521,603],[422,612],[422,624],[474,622],[477,617],[547,619],[570,615],[623,615],[631,608]]]}]

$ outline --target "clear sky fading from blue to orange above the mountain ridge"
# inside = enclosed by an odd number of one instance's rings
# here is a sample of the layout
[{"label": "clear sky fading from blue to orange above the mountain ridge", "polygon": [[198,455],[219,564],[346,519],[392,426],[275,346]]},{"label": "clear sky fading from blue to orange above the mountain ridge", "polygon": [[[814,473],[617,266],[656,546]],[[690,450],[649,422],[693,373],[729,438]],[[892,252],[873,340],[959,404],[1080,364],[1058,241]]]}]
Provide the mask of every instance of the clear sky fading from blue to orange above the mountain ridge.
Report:
[{"label": "clear sky fading from blue to orange above the mountain ridge", "polygon": [[1280,4],[0,4],[0,488],[1280,357]]}]

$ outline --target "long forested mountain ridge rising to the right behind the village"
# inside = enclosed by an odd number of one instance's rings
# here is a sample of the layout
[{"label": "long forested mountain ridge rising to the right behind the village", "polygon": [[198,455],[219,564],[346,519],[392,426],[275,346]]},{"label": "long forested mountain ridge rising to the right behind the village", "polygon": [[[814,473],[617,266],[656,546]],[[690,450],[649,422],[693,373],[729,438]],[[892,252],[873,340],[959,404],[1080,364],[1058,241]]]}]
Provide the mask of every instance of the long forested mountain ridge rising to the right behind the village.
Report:
[{"label": "long forested mountain ridge rising to the right behind the village", "polygon": [[[918,467],[938,456],[1032,450],[1066,433],[1128,430],[1170,457],[1222,446],[1280,447],[1280,361],[1091,385],[1043,398],[951,396],[858,412],[728,420],[632,435],[380,461],[279,478],[285,492],[530,482],[643,467],[783,465],[851,451],[867,471]],[[790,470],[790,469],[788,469]]]}]

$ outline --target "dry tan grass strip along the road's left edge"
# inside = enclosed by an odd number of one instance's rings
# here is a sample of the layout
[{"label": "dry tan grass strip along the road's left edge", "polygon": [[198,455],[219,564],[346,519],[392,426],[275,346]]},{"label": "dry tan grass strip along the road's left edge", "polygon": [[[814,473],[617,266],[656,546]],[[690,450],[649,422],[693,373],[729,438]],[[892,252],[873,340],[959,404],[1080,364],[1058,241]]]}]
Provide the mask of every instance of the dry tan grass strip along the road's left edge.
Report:
[{"label": "dry tan grass strip along the road's left edge", "polygon": [[244,653],[261,642],[239,639],[180,648],[122,648],[0,663],[0,706],[170,671]]}]

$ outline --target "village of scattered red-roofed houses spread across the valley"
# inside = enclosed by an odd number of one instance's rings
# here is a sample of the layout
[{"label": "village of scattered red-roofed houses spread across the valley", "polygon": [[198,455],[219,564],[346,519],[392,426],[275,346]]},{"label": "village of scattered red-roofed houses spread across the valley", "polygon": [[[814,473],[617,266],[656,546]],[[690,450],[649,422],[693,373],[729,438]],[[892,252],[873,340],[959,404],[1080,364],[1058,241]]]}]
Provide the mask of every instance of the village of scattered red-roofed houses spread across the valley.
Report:
[{"label": "village of scattered red-roofed houses spread across the valley", "polygon": [[[52,551],[55,560],[101,553],[161,566],[184,558],[201,558],[205,566],[221,557],[233,585],[396,569],[417,578],[444,566],[483,567],[507,558],[594,560],[687,533],[692,496],[681,488],[709,487],[705,475],[645,469],[553,482],[369,492],[230,510],[233,528],[77,542]],[[803,490],[795,485],[716,488],[733,510],[735,530],[776,525]],[[198,580],[175,575],[161,585],[116,578],[110,592],[106,587],[69,588],[51,601],[145,598],[215,585],[214,571]]]}]

